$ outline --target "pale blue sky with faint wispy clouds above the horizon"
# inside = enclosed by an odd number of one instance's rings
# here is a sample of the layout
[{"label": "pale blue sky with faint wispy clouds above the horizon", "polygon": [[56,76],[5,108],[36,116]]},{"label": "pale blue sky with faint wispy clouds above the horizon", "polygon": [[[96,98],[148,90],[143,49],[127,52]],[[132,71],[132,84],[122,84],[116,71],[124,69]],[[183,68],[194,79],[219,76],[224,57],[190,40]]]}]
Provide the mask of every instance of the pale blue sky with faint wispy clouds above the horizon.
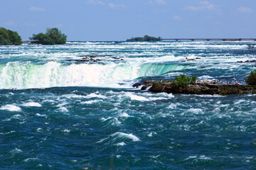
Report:
[{"label": "pale blue sky with faint wispy clouds above the horizon", "polygon": [[54,27],[68,40],[256,38],[256,1],[1,0],[0,26],[23,40]]}]

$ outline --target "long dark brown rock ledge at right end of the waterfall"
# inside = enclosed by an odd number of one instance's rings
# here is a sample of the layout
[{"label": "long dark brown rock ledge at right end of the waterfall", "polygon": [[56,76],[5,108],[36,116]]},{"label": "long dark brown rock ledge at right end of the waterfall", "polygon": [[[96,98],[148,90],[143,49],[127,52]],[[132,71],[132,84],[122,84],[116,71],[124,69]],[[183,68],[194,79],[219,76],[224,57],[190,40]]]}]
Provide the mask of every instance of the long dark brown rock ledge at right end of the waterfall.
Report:
[{"label": "long dark brown rock ledge at right end of the waterfall", "polygon": [[166,92],[168,94],[256,94],[255,85],[223,84],[216,82],[197,82],[188,86],[176,86],[173,81],[144,81],[141,84],[134,84],[134,87],[141,87],[142,90],[149,88],[154,93]]}]

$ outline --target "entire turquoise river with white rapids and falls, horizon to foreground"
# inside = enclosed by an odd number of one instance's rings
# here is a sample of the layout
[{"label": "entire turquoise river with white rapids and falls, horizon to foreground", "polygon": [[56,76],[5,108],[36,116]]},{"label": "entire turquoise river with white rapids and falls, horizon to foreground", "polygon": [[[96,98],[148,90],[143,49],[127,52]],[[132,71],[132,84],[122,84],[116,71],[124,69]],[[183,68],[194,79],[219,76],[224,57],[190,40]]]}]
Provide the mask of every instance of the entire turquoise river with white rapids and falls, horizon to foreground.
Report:
[{"label": "entire turquoise river with white rapids and falls, horizon to foreground", "polygon": [[0,46],[0,169],[255,169],[256,95],[132,87],[182,73],[244,84],[251,43]]}]

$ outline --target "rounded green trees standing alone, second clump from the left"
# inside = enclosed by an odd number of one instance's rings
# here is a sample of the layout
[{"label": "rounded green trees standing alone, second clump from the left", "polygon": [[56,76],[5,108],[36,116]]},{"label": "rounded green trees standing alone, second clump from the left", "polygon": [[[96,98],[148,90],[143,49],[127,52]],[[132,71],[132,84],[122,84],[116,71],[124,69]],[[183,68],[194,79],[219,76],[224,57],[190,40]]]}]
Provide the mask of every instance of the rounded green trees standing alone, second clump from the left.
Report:
[{"label": "rounded green trees standing alone, second clump from the left", "polygon": [[37,40],[42,45],[60,45],[65,44],[67,35],[62,34],[58,28],[47,28],[46,33],[33,34],[31,40]]}]

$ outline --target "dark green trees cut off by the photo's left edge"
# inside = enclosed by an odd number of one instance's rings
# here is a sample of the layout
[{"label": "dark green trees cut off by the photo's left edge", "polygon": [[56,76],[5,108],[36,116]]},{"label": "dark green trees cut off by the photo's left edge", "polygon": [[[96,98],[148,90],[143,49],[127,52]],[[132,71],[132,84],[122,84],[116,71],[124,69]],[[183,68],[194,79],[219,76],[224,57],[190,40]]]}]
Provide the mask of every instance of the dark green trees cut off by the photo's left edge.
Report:
[{"label": "dark green trees cut off by the photo's left edge", "polygon": [[0,28],[0,45],[21,45],[21,36],[12,30]]}]

